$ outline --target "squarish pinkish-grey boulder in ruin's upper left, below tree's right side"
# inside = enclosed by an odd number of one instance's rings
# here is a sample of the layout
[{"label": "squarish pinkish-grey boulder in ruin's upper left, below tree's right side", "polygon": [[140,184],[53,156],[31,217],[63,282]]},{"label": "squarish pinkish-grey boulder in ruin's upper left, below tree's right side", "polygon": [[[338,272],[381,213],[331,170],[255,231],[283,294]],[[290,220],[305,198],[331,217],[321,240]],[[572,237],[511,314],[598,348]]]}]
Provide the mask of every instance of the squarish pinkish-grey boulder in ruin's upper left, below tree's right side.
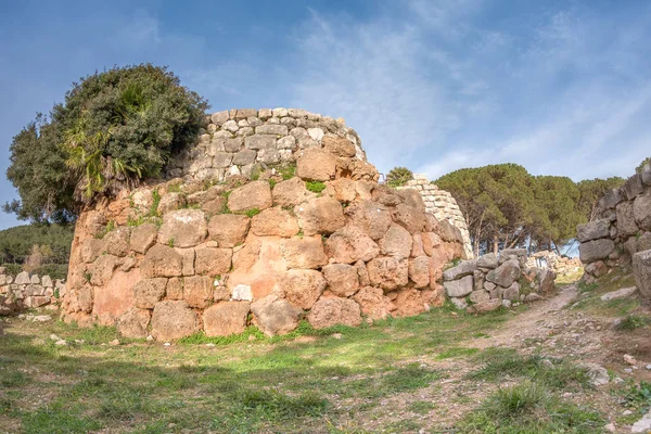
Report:
[{"label": "squarish pinkish-grey boulder in ruin's upper left, below tree's right side", "polygon": [[174,247],[194,247],[204,242],[207,233],[206,216],[203,210],[178,209],[163,217],[158,242]]}]

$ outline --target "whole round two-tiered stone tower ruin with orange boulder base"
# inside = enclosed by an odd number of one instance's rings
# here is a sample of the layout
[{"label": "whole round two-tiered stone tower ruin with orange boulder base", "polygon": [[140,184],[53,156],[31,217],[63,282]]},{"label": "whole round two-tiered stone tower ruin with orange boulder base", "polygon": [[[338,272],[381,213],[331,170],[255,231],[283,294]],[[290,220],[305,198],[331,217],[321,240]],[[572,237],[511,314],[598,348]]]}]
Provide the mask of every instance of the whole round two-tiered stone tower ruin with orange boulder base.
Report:
[{"label": "whole round two-tiered stone tower ruin with orange boulder base", "polygon": [[167,341],[441,306],[444,267],[465,257],[462,235],[419,192],[378,178],[343,120],[216,113],[166,179],[81,213],[62,317]]}]

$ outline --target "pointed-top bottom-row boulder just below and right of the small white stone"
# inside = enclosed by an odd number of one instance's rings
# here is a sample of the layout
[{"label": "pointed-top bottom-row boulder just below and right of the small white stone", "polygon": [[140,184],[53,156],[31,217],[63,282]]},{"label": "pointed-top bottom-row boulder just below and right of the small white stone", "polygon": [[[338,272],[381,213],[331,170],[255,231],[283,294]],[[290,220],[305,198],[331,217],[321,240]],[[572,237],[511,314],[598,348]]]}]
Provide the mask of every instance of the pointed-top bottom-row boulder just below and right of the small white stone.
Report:
[{"label": "pointed-top bottom-row boulder just below and right of the small white stone", "polygon": [[298,327],[303,309],[278,295],[269,294],[251,305],[257,327],[267,336],[286,334]]}]

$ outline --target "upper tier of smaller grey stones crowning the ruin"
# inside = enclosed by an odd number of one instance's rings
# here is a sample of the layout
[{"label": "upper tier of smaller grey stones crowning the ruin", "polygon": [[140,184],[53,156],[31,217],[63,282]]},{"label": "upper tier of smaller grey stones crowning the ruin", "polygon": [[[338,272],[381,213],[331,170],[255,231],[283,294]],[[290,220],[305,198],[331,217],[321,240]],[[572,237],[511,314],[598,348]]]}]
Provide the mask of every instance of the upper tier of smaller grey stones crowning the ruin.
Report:
[{"label": "upper tier of smaller grey stones crowning the ruin", "polygon": [[[332,139],[337,138],[352,146],[335,149]],[[361,140],[343,119],[299,108],[238,108],[208,116],[197,145],[170,162],[167,177],[217,181],[235,175],[252,177],[269,166],[293,162],[297,152],[310,148],[326,148],[347,158],[345,170],[363,170],[366,165]]]}]

